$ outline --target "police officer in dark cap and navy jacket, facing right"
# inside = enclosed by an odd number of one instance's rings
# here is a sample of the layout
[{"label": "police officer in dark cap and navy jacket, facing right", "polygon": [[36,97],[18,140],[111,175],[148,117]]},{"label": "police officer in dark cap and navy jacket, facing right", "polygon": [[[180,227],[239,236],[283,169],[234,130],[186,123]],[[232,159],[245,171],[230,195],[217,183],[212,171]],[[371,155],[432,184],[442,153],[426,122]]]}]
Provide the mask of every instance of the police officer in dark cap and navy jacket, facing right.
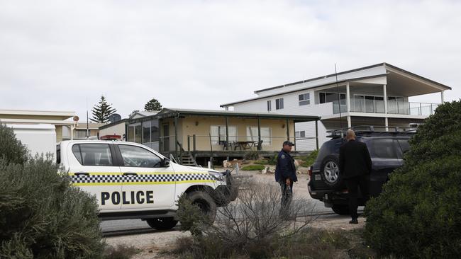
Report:
[{"label": "police officer in dark cap and navy jacket, facing right", "polygon": [[275,181],[279,183],[282,189],[282,206],[280,207],[280,216],[288,217],[285,214],[288,212],[288,207],[293,197],[293,182],[296,182],[296,167],[294,166],[294,159],[289,155],[291,147],[294,146],[292,142],[283,142],[282,150],[277,156],[277,166],[275,167]]}]

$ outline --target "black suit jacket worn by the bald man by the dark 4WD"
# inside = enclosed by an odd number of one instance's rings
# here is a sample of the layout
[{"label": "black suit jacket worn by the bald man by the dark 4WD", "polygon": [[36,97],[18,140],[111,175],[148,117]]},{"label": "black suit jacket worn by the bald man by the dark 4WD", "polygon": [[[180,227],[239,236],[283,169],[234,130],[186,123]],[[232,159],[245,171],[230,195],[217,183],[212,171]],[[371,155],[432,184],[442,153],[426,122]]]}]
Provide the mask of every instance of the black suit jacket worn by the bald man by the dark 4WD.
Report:
[{"label": "black suit jacket worn by the bald man by the dark 4WD", "polygon": [[339,149],[339,170],[343,178],[367,175],[372,172],[372,159],[367,145],[350,140]]}]

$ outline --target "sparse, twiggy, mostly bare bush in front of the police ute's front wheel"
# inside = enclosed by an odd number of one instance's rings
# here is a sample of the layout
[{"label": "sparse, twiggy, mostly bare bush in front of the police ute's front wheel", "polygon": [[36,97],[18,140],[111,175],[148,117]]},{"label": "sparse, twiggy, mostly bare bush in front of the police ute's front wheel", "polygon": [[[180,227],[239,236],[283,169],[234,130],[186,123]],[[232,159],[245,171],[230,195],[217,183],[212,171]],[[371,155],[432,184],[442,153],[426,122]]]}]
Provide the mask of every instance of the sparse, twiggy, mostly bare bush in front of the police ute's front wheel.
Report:
[{"label": "sparse, twiggy, mostly bare bush in front of the police ute's front wheel", "polygon": [[[280,191],[275,185],[248,183],[239,193],[238,202],[218,209],[215,224],[187,224],[191,238],[180,238],[174,251],[181,258],[229,258],[244,255],[268,258],[285,253],[277,246],[295,241],[315,218],[309,216],[313,205],[308,200],[293,200],[280,214]],[[200,222],[198,207],[182,207],[189,222]],[[196,216],[192,216],[196,215]],[[192,219],[197,217],[196,219]],[[286,220],[287,218],[291,220]],[[287,244],[288,246],[289,244]],[[277,252],[278,251],[278,252]]]}]

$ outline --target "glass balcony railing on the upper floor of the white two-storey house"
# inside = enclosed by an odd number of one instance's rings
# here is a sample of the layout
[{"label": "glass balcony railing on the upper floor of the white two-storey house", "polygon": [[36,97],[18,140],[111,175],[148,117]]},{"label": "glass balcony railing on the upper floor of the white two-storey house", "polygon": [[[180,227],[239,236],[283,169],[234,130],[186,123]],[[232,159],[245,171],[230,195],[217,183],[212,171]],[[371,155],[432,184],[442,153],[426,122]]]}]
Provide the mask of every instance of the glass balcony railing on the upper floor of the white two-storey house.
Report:
[{"label": "glass balcony railing on the upper floor of the white two-storey house", "polygon": [[[346,113],[348,105],[345,105],[345,100],[341,100],[341,105],[338,101],[333,101],[333,113]],[[415,103],[406,102],[404,100],[388,100],[387,113],[401,115],[433,115],[438,103]],[[369,100],[364,98],[350,98],[350,111],[352,113],[384,113],[384,100]]]}]

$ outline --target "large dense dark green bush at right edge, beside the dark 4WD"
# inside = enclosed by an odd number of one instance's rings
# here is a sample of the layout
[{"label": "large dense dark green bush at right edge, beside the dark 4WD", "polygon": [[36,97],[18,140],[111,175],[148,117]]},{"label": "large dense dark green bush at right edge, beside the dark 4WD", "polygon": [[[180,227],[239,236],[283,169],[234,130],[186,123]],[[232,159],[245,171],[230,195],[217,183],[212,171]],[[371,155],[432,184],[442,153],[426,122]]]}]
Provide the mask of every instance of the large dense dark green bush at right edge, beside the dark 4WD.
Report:
[{"label": "large dense dark green bush at right edge, beside the dark 4WD", "polygon": [[404,166],[365,207],[365,238],[383,255],[461,257],[461,103],[440,105]]}]

